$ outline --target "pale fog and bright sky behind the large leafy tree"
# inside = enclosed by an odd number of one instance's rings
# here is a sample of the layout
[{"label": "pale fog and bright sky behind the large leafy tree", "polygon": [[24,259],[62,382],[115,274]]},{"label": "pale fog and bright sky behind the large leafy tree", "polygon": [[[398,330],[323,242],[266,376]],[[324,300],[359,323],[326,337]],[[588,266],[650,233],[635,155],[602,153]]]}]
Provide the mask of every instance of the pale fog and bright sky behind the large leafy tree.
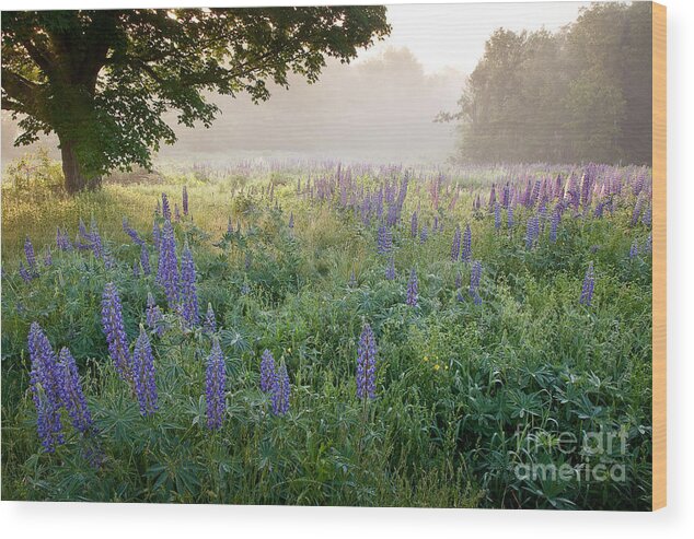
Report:
[{"label": "pale fog and bright sky behind the large leafy tree", "polygon": [[[176,127],[178,142],[158,159],[228,161],[255,156],[441,162],[458,143],[455,124],[437,124],[456,108],[465,78],[498,27],[556,31],[588,2],[389,7],[391,35],[350,65],[328,62],[321,79],[290,79],[255,105],[246,95],[210,95],[221,114],[210,129]],[[173,114],[167,117],[175,125]],[[3,112],[2,163],[27,149]],[[57,139],[41,144],[59,156]]]}]

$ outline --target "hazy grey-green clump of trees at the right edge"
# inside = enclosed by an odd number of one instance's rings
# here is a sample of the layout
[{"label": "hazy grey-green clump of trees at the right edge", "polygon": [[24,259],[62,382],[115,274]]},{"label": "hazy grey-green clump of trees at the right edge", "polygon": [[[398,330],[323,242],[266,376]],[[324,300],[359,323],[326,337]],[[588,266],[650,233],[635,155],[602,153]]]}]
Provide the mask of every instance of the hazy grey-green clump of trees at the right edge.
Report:
[{"label": "hazy grey-green clump of trees at the right edge", "polygon": [[466,162],[651,164],[650,2],[600,3],[560,32],[497,30],[460,109]]}]

